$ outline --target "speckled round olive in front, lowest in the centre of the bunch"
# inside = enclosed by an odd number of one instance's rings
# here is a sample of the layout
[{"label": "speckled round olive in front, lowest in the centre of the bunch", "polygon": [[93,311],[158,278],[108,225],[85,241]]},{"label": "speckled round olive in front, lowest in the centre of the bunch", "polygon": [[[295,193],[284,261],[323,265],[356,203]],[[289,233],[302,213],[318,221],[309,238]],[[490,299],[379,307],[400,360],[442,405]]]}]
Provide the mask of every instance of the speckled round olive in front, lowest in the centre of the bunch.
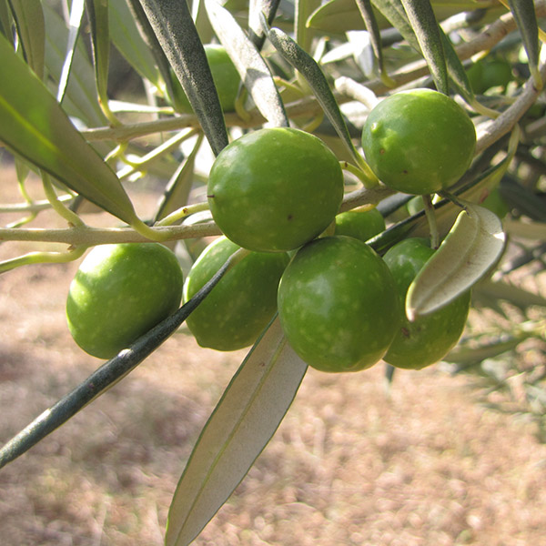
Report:
[{"label": "speckled round olive in front, lowest in the centre of the bunch", "polygon": [[359,371],[377,363],[399,328],[385,262],[356,238],[318,238],[298,250],[278,287],[288,342],[309,366]]}]

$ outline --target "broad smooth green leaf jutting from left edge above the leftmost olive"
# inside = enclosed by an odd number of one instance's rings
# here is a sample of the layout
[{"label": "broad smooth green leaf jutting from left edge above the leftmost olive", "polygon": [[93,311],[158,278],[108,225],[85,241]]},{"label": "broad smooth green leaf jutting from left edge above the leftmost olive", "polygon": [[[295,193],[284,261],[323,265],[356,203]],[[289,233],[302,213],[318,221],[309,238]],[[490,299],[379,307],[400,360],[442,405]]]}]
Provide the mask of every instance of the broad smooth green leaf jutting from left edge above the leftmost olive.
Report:
[{"label": "broad smooth green leaf jutting from left edge above the leftmost olive", "polygon": [[116,174],[0,35],[0,140],[129,224],[139,222]]}]

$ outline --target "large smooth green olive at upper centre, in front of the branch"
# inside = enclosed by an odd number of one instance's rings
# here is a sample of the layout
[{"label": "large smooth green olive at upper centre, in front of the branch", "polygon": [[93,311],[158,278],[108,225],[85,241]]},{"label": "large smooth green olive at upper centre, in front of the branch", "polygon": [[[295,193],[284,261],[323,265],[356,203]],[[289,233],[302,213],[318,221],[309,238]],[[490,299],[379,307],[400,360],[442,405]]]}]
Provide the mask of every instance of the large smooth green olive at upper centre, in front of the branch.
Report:
[{"label": "large smooth green olive at upper centre, in front of the branch", "polygon": [[234,243],[258,252],[288,251],[329,227],[343,198],[343,175],[317,136],[262,128],[218,154],[207,197],[217,226]]}]

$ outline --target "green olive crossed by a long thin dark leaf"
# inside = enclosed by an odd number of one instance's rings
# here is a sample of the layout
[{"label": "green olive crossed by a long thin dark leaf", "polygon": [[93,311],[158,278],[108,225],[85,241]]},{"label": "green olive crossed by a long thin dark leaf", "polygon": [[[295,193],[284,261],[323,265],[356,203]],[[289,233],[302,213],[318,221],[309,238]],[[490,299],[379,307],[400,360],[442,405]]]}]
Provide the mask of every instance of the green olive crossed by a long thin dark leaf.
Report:
[{"label": "green olive crossed by a long thin dark leaf", "polygon": [[[187,274],[187,301],[221,268],[238,245],[217,238]],[[187,318],[187,328],[201,347],[243,349],[252,345],[277,311],[278,281],[288,265],[286,253],[249,252],[227,271]]]}]

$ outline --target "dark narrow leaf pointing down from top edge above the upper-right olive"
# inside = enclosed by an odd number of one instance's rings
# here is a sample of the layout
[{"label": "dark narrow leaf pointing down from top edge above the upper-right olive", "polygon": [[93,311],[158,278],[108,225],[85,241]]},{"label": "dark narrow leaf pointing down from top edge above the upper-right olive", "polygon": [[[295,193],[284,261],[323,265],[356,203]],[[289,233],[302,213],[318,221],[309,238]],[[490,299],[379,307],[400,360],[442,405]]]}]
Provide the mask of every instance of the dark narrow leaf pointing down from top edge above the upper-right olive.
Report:
[{"label": "dark narrow leaf pointing down from top edge above the upper-right olive", "polygon": [[450,94],[448,68],[444,56],[440,29],[429,0],[401,0],[436,88]]}]

